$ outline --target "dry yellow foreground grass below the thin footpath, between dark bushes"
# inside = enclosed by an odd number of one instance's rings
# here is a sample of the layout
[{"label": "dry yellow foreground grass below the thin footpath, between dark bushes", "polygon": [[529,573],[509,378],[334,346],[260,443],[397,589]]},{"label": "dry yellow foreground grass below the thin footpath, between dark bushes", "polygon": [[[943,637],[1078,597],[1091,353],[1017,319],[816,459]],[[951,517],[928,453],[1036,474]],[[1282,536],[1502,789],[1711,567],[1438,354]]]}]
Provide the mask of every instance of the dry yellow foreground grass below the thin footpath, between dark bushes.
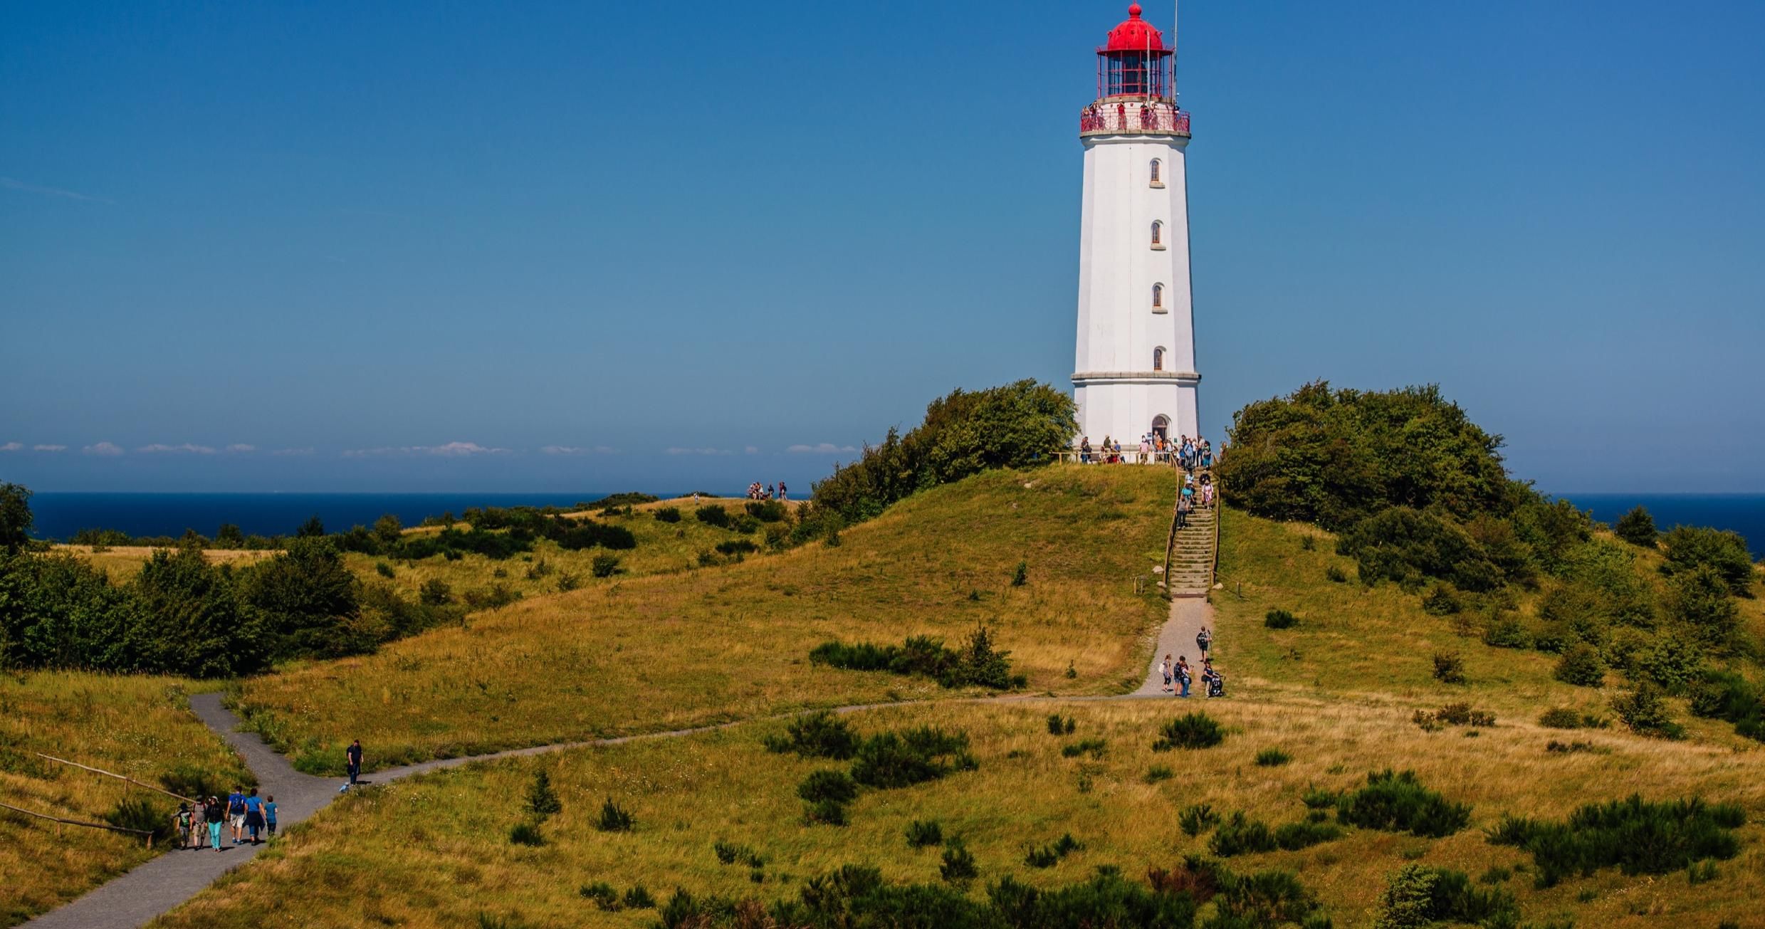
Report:
[{"label": "dry yellow foreground grass below the thin footpath, between dark bushes", "polygon": [[[577,887],[609,881],[620,890],[642,883],[658,899],[685,887],[764,901],[794,895],[801,881],[842,864],[870,864],[893,880],[937,881],[937,850],[904,841],[913,819],[937,819],[962,837],[981,867],[981,881],[1004,874],[1034,885],[1080,880],[1096,865],[1130,876],[1149,865],[1175,865],[1205,851],[1205,835],[1177,828],[1195,802],[1243,809],[1271,825],[1301,819],[1299,795],[1310,786],[1350,788],[1370,770],[1414,768],[1453,800],[1474,805],[1470,828],[1447,839],[1350,830],[1304,851],[1232,858],[1234,869],[1296,869],[1336,925],[1371,922],[1387,872],[1405,858],[1481,874],[1525,857],[1488,844],[1481,828],[1504,811],[1562,816],[1580,804],[1633,789],[1649,798],[1719,797],[1742,804],[1754,821],[1742,830],[1742,857],[1721,876],[1691,887],[1684,874],[1624,878],[1603,871],[1551,890],[1534,890],[1520,874],[1509,887],[1527,920],[1573,917],[1578,925],[1654,929],[1714,925],[1719,918],[1761,925],[1754,901],[1765,895],[1765,752],[1717,745],[1671,745],[1627,733],[1578,733],[1610,754],[1560,756],[1544,744],[1560,733],[1520,722],[1483,729],[1423,733],[1401,708],[1378,701],[1274,699],[1052,703],[1001,699],[870,710],[849,719],[863,731],[937,724],[974,740],[980,770],[895,791],[865,791],[845,828],[812,827],[801,818],[794,786],[808,772],[838,767],[770,754],[761,736],[777,722],[607,749],[471,765],[349,797],[297,830],[259,864],[235,872],[155,925],[411,925],[471,924],[480,911],[522,925],[650,925],[653,911],[602,913]],[[1156,754],[1158,726],[1179,710],[1202,708],[1228,728],[1216,749]],[[1061,710],[1077,733],[1050,736],[1043,715]],[[1105,738],[1101,759],[1061,756],[1077,738]],[[1257,751],[1281,747],[1285,767],[1253,763]],[[1147,784],[1153,765],[1175,777]],[[563,812],[545,823],[547,844],[508,842],[522,818],[522,798],[537,770],[547,770]],[[1089,786],[1085,786],[1089,781]],[[632,811],[632,834],[593,828],[600,802],[612,797]],[[1025,867],[1027,844],[1071,832],[1085,844],[1054,869]],[[722,865],[715,841],[748,844],[768,858],[764,883],[747,867]],[[1592,892],[1592,901],[1578,897]],[[279,901],[261,906],[261,901]]]}]

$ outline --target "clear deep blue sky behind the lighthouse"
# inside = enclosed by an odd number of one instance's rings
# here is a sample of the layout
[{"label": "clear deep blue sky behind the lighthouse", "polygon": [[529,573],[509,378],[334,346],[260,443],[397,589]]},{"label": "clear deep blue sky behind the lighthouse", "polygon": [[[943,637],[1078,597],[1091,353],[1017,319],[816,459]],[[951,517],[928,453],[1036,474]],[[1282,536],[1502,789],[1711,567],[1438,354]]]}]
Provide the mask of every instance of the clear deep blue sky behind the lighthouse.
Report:
[{"label": "clear deep blue sky behind the lighthouse", "polygon": [[[1068,387],[1124,9],[9,4],[0,479],[807,489]],[[1765,4],[1183,18],[1207,433],[1438,381],[1546,489],[1765,491]]]}]

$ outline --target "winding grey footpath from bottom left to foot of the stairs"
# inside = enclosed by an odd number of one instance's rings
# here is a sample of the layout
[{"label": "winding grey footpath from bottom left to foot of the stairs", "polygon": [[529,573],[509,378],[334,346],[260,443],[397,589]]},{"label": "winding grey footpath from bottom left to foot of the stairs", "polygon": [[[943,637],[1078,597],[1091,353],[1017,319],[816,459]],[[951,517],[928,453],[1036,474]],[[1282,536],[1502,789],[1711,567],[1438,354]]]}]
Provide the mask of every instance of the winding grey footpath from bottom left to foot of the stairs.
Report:
[{"label": "winding grey footpath from bottom left to foot of the stairs", "polygon": [[[1015,699],[1055,699],[1055,701],[1115,701],[1115,699],[1153,699],[1168,698],[1163,692],[1163,680],[1158,675],[1158,661],[1165,653],[1172,655],[1190,655],[1191,666],[1200,666],[1200,659],[1195,648],[1195,634],[1200,632],[1202,625],[1213,625],[1213,604],[1202,597],[1177,597],[1170,600],[1170,615],[1165,625],[1158,632],[1158,641],[1153,650],[1153,661],[1147,664],[1145,682],[1128,694],[1101,696],[1101,698],[1015,698]],[[974,698],[974,701],[995,699],[995,698]],[[879,706],[898,706],[898,703],[867,703],[854,706],[840,706],[835,712],[849,714],[860,710],[872,710]],[[279,825],[291,827],[314,812],[325,809],[327,804],[337,798],[341,779],[337,777],[314,777],[311,774],[300,774],[286,758],[270,749],[256,733],[238,731],[238,717],[233,715],[226,706],[221,705],[221,694],[198,694],[191,698],[191,712],[196,714],[205,726],[214,729],[226,738],[226,742],[238,751],[245,759],[245,765],[258,775],[258,791],[275,795],[275,805],[279,811]],[[424,761],[418,765],[406,765],[402,768],[387,768],[362,777],[364,784],[397,781],[401,777],[409,777],[413,774],[425,774],[441,768],[457,768],[461,765],[469,765],[473,761],[492,761],[498,758],[522,758],[533,754],[558,752],[567,749],[582,749],[597,745],[620,745],[625,742],[637,742],[648,738],[680,738],[687,735],[706,733],[713,729],[727,729],[731,726],[745,726],[750,722],[762,722],[766,719],[785,719],[796,714],[780,714],[777,717],[759,717],[743,719],[736,722],[722,722],[717,726],[699,726],[692,729],[674,729],[665,733],[646,733],[646,735],[628,735],[620,738],[593,738],[584,742],[558,742],[551,745],[533,745],[530,749],[514,749],[496,754],[477,754],[468,758],[445,758],[434,761]],[[30,929],[136,929],[152,922],[155,917],[171,911],[175,906],[194,897],[210,883],[219,880],[222,874],[252,860],[258,851],[265,846],[235,846],[222,837],[221,851],[215,853],[207,846],[196,851],[176,850],[159,855],[157,858],[116,876],[115,880],[94,888],[86,895],[51,910],[25,925]]]}]

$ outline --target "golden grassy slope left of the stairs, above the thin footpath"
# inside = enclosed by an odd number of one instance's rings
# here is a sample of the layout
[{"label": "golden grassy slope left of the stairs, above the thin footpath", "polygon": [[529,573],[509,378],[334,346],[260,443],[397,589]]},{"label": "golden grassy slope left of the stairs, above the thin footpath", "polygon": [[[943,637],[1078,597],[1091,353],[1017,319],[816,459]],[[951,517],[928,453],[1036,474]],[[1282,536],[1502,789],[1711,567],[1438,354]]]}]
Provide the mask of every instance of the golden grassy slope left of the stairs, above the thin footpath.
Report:
[{"label": "golden grassy slope left of the stairs, above the thin footpath", "polygon": [[992,472],[916,495],[840,546],[530,597],[374,655],[245,680],[238,705],[309,770],[341,770],[351,738],[383,767],[935,696],[930,680],[815,666],[808,652],[916,634],[955,645],[978,623],[1033,691],[1110,692],[1144,673],[1165,615],[1151,569],[1172,495],[1151,468]]}]

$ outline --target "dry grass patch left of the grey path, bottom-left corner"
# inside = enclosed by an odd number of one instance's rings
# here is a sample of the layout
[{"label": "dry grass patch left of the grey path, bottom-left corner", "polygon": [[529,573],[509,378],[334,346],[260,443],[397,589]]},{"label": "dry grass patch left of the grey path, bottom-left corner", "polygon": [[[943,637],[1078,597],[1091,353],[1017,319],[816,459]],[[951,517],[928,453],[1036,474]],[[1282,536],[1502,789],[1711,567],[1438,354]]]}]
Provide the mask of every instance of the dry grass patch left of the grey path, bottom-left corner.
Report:
[{"label": "dry grass patch left of the grey path, bottom-left corner", "polygon": [[[69,819],[101,821],[124,797],[175,800],[30,752],[157,784],[191,765],[215,781],[238,782],[245,768],[196,721],[185,692],[194,682],[34,671],[0,678],[0,800]],[[134,835],[60,827],[0,811],[0,924],[78,897],[150,858]]]}]

